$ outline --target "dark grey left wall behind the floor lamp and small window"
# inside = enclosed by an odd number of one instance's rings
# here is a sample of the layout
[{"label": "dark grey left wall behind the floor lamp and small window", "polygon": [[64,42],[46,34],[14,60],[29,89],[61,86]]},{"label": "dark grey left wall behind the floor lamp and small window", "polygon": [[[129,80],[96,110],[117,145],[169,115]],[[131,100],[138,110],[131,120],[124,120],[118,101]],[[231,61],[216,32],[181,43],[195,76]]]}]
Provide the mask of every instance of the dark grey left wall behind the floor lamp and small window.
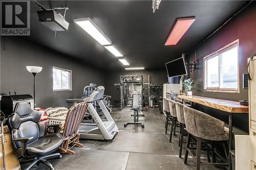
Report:
[{"label": "dark grey left wall behind the floor lamp and small window", "polygon": [[[49,48],[17,37],[1,37],[1,93],[33,95],[33,76],[27,65],[42,66],[36,76],[36,107],[70,107],[66,99],[81,98],[91,82],[104,86],[104,74]],[[52,67],[72,70],[72,90],[53,91]]]}]

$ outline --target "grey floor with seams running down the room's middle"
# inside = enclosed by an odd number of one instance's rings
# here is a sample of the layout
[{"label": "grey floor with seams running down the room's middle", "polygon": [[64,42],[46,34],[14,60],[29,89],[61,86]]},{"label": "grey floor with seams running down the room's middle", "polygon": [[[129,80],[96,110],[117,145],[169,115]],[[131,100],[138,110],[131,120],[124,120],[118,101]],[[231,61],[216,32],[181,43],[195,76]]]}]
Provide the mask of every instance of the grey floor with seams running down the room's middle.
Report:
[{"label": "grey floor with seams running down the room's middle", "polygon": [[[80,139],[82,148],[74,148],[74,155],[63,155],[61,159],[49,160],[55,169],[90,169],[90,170],[157,170],[157,169],[195,169],[194,160],[189,157],[188,164],[179,158],[178,136],[169,143],[169,132],[165,134],[165,116],[157,109],[144,111],[145,117],[139,117],[145,128],[123,124],[129,120],[132,111],[130,108],[115,109],[111,114],[119,133],[111,143]],[[177,129],[179,130],[179,129]],[[186,139],[184,139],[186,140]],[[185,143],[183,144],[185,147]],[[185,148],[183,148],[183,155]],[[183,156],[184,157],[184,156]],[[205,161],[205,159],[202,159]],[[25,167],[23,165],[23,167]],[[47,169],[40,164],[32,169]],[[217,170],[214,166],[202,165],[201,169]]]}]

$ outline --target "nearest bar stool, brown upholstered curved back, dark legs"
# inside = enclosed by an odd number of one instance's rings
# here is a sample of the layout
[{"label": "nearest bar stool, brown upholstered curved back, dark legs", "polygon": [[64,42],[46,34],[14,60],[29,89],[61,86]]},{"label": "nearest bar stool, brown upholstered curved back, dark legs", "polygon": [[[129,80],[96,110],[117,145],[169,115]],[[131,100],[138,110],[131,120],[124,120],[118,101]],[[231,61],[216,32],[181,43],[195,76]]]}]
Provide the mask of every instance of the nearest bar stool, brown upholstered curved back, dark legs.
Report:
[{"label": "nearest bar stool, brown upholstered curved back, dark legs", "polygon": [[[184,163],[187,163],[188,152],[196,161],[196,169],[200,170],[201,164],[212,164],[212,165],[221,165],[228,166],[228,163],[209,163],[209,162],[200,162],[201,150],[211,150],[211,149],[201,149],[201,143],[222,143],[225,152],[225,160],[227,162],[227,146],[225,145],[228,141],[228,132],[229,129],[224,127],[224,122],[221,120],[211,117],[208,114],[200,112],[198,110],[189,108],[187,106],[183,107],[184,118],[186,130],[189,133],[187,138],[186,153]],[[197,140],[197,148],[190,148],[191,138]],[[191,153],[190,150],[197,150],[196,157]],[[208,160],[209,161],[209,160]],[[213,160],[215,162],[215,160]]]}]

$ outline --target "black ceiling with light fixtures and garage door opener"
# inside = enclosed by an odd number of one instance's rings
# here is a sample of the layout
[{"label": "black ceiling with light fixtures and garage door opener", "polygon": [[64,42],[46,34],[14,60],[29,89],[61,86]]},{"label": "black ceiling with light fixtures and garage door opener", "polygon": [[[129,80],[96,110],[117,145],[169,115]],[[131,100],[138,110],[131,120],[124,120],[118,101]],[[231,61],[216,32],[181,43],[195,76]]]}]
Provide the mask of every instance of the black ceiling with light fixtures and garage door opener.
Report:
[{"label": "black ceiling with light fixtures and garage door opener", "polygon": [[[74,23],[90,17],[131,66],[163,69],[164,63],[193,49],[217,29],[246,1],[162,1],[152,13],[152,1],[39,1],[47,8],[69,10],[69,30],[54,32],[38,22],[37,5],[31,2],[31,36],[22,37],[47,46],[97,68],[123,69],[123,65],[102,45]],[[61,11],[60,11],[61,13]],[[195,16],[196,21],[177,45],[164,46],[178,17]]]}]

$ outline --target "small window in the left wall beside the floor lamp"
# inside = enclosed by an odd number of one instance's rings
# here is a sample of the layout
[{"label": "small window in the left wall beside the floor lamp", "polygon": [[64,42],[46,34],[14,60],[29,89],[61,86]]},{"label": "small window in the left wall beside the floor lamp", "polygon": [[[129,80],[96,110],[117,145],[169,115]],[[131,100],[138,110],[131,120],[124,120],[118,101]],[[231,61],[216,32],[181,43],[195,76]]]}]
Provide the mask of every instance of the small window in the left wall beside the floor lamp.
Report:
[{"label": "small window in the left wall beside the floor lamp", "polygon": [[72,72],[68,69],[53,67],[53,91],[72,90]]}]

